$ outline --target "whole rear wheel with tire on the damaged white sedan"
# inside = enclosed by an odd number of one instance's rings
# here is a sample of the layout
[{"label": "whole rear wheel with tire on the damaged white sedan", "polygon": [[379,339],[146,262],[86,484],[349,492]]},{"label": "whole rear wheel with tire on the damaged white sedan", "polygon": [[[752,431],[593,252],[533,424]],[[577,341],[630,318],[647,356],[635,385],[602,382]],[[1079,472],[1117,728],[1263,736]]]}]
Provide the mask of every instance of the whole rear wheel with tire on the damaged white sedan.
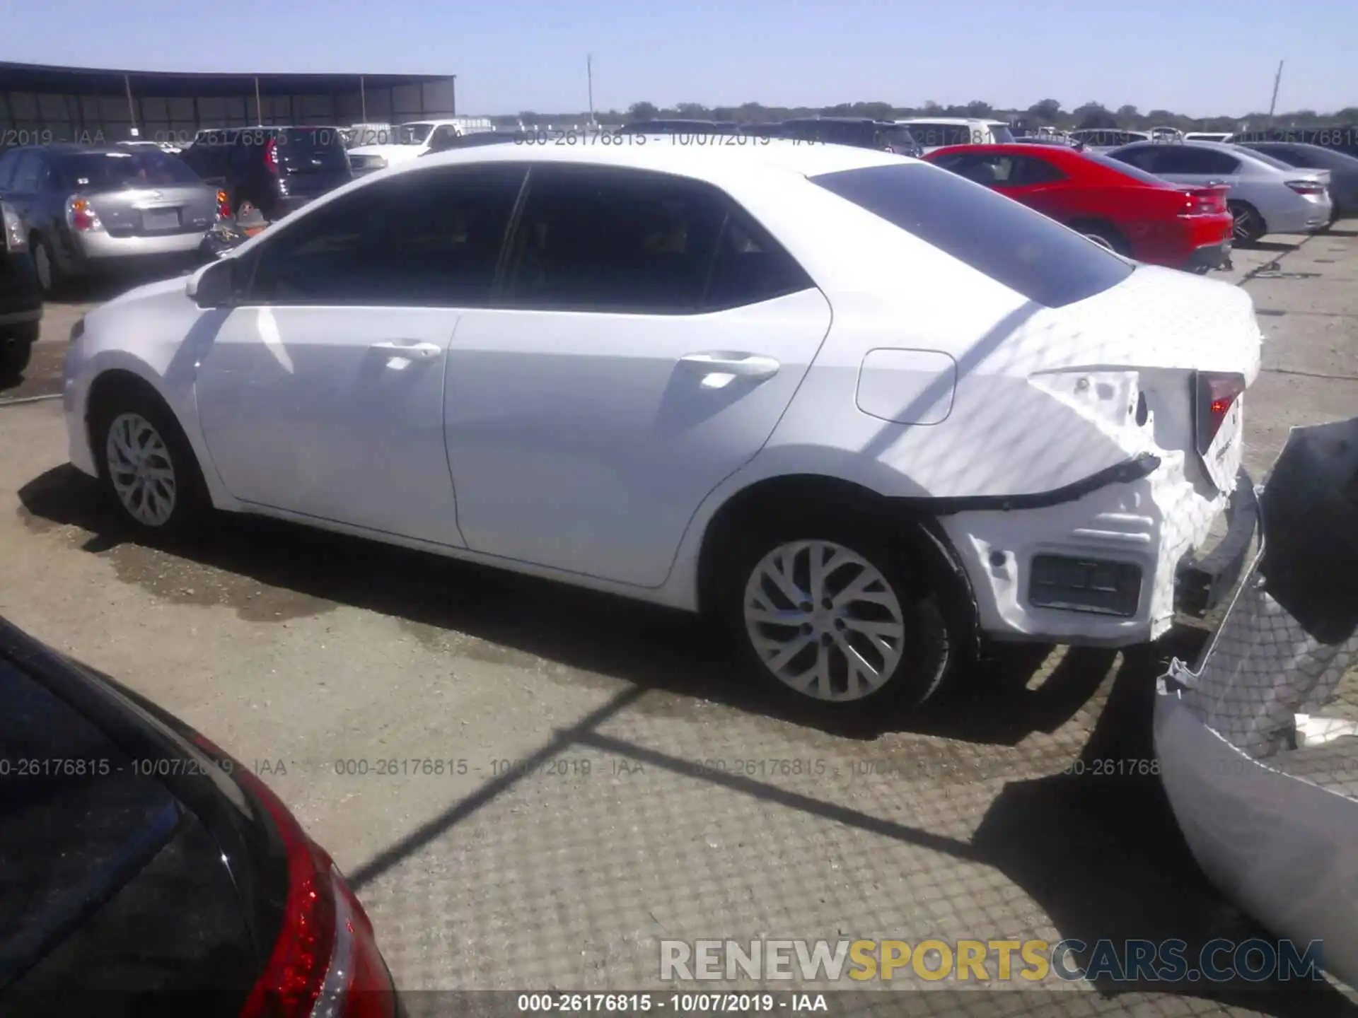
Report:
[{"label": "whole rear wheel with tire on the damaged white sedan", "polygon": [[915,707],[942,687],[960,641],[918,557],[870,523],[826,513],[736,547],[725,615],[777,695],[843,714]]}]

